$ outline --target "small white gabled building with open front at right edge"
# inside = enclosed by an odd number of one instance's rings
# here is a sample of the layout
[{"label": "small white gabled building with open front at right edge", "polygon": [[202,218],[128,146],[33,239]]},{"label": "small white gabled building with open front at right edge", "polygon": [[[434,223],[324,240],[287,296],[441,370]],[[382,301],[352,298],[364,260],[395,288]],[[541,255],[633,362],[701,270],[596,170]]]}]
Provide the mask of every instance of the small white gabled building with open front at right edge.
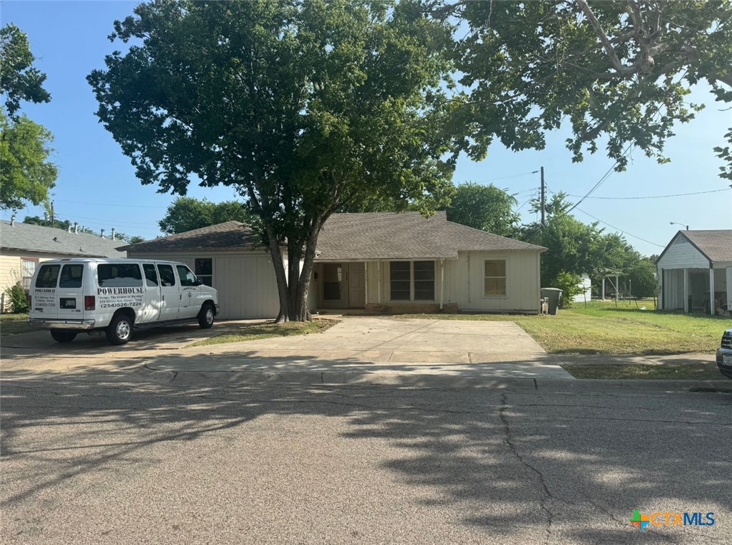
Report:
[{"label": "small white gabled building with open front at right edge", "polygon": [[656,260],[663,310],[714,314],[732,302],[732,229],[679,231]]}]

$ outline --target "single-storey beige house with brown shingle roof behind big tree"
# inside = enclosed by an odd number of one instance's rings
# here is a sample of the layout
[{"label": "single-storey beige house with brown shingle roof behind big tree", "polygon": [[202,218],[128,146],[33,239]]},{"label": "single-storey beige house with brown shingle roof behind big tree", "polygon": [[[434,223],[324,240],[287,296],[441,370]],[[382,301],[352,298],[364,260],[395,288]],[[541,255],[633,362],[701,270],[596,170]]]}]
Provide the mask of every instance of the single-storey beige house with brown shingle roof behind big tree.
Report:
[{"label": "single-storey beige house with brown shingle roof behind big tree", "polygon": [[[538,313],[546,248],[447,221],[444,212],[334,214],[318,237],[310,310],[457,310]],[[269,251],[227,221],[127,247],[130,257],[173,259],[219,290],[220,316],[276,316]]]}]

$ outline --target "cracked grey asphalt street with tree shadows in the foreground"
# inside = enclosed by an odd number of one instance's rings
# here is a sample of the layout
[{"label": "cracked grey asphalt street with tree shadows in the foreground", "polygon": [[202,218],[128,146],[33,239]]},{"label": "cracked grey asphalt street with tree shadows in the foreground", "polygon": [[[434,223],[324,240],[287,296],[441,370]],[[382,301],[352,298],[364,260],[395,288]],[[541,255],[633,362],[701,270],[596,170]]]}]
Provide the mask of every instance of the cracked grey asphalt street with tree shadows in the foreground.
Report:
[{"label": "cracked grey asphalt street with tree shadows in the foreground", "polygon": [[[18,365],[3,373],[4,544],[732,541],[729,394]],[[633,509],[717,523],[641,532]]]}]

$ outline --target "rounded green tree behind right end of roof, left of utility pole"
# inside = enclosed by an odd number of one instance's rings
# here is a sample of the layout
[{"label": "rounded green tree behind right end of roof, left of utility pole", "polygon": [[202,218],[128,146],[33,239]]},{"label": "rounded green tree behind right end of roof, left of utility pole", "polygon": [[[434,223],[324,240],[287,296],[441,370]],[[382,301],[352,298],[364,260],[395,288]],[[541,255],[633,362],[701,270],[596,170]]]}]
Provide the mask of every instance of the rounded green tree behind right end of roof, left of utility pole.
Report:
[{"label": "rounded green tree behind right end of roof, left of utility pole", "polygon": [[507,191],[479,183],[461,183],[447,207],[447,219],[458,224],[481,229],[496,235],[509,236],[515,233],[520,216],[514,207],[516,198]]}]

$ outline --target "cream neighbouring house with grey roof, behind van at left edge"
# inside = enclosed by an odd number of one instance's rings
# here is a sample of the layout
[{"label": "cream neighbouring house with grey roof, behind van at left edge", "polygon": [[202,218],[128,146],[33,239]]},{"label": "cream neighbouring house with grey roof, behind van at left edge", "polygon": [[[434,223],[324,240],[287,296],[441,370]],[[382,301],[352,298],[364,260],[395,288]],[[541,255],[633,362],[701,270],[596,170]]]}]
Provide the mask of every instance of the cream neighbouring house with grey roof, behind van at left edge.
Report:
[{"label": "cream neighbouring house with grey roof, behind van at left edge", "polygon": [[[124,240],[66,232],[40,225],[0,221],[0,292],[15,284],[28,289],[36,267],[59,257],[127,257]],[[5,297],[7,306],[8,298]],[[2,309],[5,310],[5,309]]]}]

